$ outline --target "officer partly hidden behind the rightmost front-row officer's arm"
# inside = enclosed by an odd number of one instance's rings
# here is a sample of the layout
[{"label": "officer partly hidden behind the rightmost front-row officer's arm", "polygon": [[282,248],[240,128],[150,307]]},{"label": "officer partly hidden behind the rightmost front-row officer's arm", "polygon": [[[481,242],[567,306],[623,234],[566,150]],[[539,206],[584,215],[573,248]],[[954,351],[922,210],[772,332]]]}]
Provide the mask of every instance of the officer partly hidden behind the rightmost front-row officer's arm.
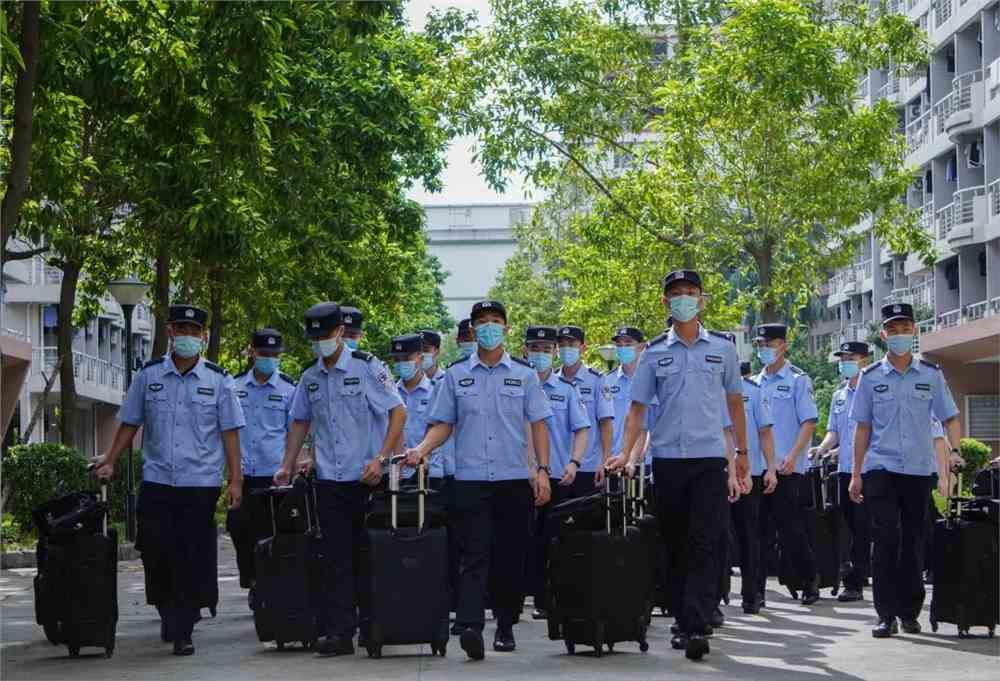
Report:
[{"label": "officer partly hidden behind the rightmost front-row officer's arm", "polygon": [[844,379],[830,400],[830,416],[827,420],[826,437],[816,448],[816,456],[825,456],[834,447],[837,452],[838,506],[844,517],[844,526],[850,532],[850,568],[844,572],[844,590],[837,596],[843,603],[860,601],[864,598],[864,580],[871,567],[871,540],[868,531],[868,515],[864,504],[852,504],[847,488],[851,482],[854,465],[854,421],[850,418],[854,395],[857,391],[861,370],[868,366],[870,352],[868,343],[848,341],[840,344],[834,353],[838,358],[837,370]]}]

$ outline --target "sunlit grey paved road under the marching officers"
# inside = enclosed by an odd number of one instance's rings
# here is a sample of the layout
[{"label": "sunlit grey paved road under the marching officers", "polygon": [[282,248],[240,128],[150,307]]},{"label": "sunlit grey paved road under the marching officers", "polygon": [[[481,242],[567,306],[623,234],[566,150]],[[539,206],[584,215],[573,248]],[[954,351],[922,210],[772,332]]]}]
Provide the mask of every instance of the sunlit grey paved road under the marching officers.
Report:
[{"label": "sunlit grey paved road under the marching officers", "polygon": [[[559,676],[573,681],[636,679],[642,681],[692,679],[907,679],[923,681],[995,680],[1000,673],[1000,637],[961,640],[951,625],[938,634],[900,636],[890,641],[872,639],[871,604],[841,605],[824,599],[806,608],[791,601],[776,583],[762,615],[743,615],[726,608],[727,626],[712,640],[706,661],[694,664],[669,646],[669,623],[654,618],[650,651],[640,654],[635,644],[619,644],[613,655],[595,659],[589,654],[570,657],[562,643],[545,638],[545,627],[530,619],[519,625],[518,651],[511,655],[487,653],[482,663],[465,659],[452,639],[445,659],[427,656],[427,648],[387,648],[386,657],[369,660],[316,658],[309,652],[286,650],[257,641],[253,620],[239,588],[232,545],[220,537],[221,602],[218,617],[203,620],[195,629],[194,657],[178,658],[159,640],[156,612],[145,604],[142,567],[122,563],[119,580],[118,641],[115,655],[105,660],[97,649],[84,649],[70,660],[64,647],[51,646],[34,621],[31,570],[0,573],[3,679],[323,679],[351,681],[395,679],[539,679]],[[738,584],[738,580],[734,580]],[[734,587],[738,589],[738,586]],[[738,602],[738,598],[736,601]],[[926,609],[922,617],[929,632]],[[975,630],[974,630],[975,631]],[[981,633],[983,630],[978,630]],[[492,624],[487,625],[488,641]],[[92,652],[93,655],[87,655]],[[779,676],[780,675],[780,676]]]}]

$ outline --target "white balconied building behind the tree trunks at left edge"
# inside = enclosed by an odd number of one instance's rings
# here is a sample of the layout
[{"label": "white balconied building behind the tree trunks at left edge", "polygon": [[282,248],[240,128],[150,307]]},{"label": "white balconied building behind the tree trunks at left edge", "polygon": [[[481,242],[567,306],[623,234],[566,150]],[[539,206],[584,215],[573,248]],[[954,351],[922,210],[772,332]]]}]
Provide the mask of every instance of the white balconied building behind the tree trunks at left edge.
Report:
[{"label": "white balconied building behind the tree trunks at left edge", "polygon": [[[0,351],[3,360],[3,395],[0,427],[4,443],[23,437],[45,381],[58,361],[57,334],[59,287],[62,271],[43,258],[4,264],[0,297]],[[73,372],[76,383],[76,432],[84,434],[79,447],[94,455],[110,445],[115,414],[125,391],[125,343],[131,342],[137,362],[149,358],[153,318],[146,305],[138,305],[132,318],[132,338],[125,338],[121,308],[105,295],[100,314],[85,327],[75,329]],[[41,411],[28,441],[58,441],[60,382],[56,378],[46,407]]]}]

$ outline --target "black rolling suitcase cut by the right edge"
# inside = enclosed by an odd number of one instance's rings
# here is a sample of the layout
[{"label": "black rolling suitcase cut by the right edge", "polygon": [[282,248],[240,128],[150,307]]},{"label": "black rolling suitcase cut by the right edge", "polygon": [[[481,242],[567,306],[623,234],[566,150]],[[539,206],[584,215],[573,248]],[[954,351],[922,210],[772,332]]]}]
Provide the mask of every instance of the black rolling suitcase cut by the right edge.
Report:
[{"label": "black rolling suitcase cut by the right edge", "polygon": [[948,513],[934,524],[931,629],[949,622],[958,627],[960,638],[971,627],[986,627],[992,637],[1000,623],[997,525],[988,510],[977,513],[968,502],[949,498]]}]

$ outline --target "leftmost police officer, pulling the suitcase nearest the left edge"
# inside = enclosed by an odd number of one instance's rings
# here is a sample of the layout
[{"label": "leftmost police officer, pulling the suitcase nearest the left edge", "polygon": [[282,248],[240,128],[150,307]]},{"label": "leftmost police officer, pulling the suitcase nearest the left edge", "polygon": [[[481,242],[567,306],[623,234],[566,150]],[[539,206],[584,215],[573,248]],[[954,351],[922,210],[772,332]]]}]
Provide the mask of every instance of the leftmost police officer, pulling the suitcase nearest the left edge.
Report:
[{"label": "leftmost police officer, pulling the suitcase nearest the left edge", "polygon": [[243,497],[243,410],[233,378],[201,357],[208,313],[171,305],[172,351],[142,368],[118,412],[121,423],[96,473],[109,479],[122,450],[143,426],[138,537],[146,600],[159,610],[160,635],[174,655],[193,655],[191,632],[206,600],[218,600],[215,502],[223,463],[230,508]]}]

